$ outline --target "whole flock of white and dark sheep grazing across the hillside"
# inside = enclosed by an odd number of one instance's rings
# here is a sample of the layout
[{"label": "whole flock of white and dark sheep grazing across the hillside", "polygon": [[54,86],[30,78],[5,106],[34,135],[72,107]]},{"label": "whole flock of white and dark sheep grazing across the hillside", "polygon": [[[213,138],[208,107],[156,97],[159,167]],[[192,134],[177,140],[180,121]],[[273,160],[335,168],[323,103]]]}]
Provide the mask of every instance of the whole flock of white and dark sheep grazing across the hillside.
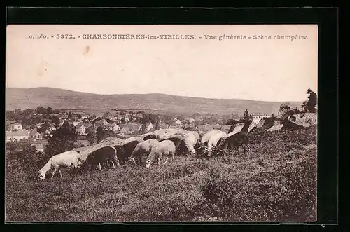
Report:
[{"label": "whole flock of white and dark sheep grazing across the hillside", "polygon": [[[211,157],[213,151],[217,155],[225,155],[242,146],[244,153],[248,146],[248,133],[255,128],[255,123],[241,123],[235,125],[235,129],[229,133],[221,130],[210,130],[209,132],[196,132],[182,129],[160,129],[154,132],[141,135],[140,137],[130,137],[128,139],[107,138],[99,144],[66,151],[52,156],[41,170],[38,171],[38,177],[45,179],[48,170],[53,169],[52,177],[55,172],[62,173],[59,168],[73,167],[78,172],[91,170],[101,164],[111,162],[114,168],[119,167],[120,163],[130,162],[134,165],[142,163],[141,158],[148,155],[146,159],[146,168],[153,163],[158,163],[162,158],[165,162],[175,155],[206,153]],[[51,178],[52,178],[51,177]]]}]

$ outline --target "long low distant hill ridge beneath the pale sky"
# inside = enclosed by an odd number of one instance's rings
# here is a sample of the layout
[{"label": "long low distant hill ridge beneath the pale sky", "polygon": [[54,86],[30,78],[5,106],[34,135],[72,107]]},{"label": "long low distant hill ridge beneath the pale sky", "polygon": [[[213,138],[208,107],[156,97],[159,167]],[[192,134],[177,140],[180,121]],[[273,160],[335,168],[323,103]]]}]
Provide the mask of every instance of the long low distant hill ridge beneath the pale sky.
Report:
[{"label": "long low distant hill ridge beneath the pale sky", "polygon": [[[302,102],[290,102],[291,106]],[[35,109],[38,106],[53,109],[150,109],[174,113],[200,114],[276,114],[281,102],[226,100],[200,97],[181,97],[165,94],[99,95],[57,88],[6,88],[6,110]]]}]

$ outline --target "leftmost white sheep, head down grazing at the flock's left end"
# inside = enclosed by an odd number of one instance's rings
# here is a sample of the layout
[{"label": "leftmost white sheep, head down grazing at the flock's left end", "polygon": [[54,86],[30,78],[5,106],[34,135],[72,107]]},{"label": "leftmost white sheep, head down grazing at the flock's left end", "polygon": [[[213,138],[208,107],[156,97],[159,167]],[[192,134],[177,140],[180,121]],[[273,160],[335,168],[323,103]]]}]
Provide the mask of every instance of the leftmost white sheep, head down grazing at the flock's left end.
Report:
[{"label": "leftmost white sheep, head down grazing at the flock's left end", "polygon": [[46,163],[41,170],[38,171],[38,177],[40,179],[45,179],[46,172],[53,168],[52,176],[51,178],[55,175],[55,172],[59,172],[59,175],[61,175],[62,178],[62,173],[59,168],[68,168],[68,167],[73,167],[73,168],[78,168],[78,165],[80,165],[80,153],[77,151],[66,151],[63,153],[59,153],[55,156],[52,156],[49,160],[48,163]]}]

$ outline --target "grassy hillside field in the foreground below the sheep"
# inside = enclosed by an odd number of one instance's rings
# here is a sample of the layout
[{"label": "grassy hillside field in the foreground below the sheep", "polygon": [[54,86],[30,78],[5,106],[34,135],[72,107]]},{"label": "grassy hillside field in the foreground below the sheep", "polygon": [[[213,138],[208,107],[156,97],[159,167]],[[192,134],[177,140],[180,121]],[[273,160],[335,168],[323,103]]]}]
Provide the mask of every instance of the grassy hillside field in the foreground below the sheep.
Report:
[{"label": "grassy hillside field in the foreground below the sheep", "polygon": [[[39,181],[6,169],[6,221],[315,221],[316,126],[251,135],[252,151]],[[35,170],[35,171],[34,171]]]}]

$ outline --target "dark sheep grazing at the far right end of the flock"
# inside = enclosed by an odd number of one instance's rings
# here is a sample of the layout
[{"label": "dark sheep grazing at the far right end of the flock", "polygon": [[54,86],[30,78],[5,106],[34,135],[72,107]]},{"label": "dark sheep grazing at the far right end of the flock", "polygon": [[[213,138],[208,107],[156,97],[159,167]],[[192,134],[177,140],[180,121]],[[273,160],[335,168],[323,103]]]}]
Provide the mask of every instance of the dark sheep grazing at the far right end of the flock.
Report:
[{"label": "dark sheep grazing at the far right end of the flock", "polygon": [[251,148],[248,146],[248,136],[245,132],[239,132],[235,135],[231,135],[230,137],[226,137],[218,145],[218,150],[222,151],[225,156],[225,153],[228,151],[228,149],[239,150],[239,146],[244,147],[244,154],[246,153],[246,147],[248,148],[248,150],[251,150]]}]

